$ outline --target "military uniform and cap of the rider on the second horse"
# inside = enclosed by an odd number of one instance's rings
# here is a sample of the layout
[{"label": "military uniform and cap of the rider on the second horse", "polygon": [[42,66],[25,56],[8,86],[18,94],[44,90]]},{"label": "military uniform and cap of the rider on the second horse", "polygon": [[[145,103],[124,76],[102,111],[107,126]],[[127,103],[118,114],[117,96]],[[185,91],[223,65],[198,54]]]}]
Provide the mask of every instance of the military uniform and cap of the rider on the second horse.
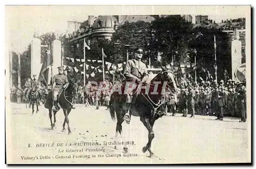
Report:
[{"label": "military uniform and cap of the rider on the second horse", "polygon": [[[63,67],[58,67],[59,70],[63,70]],[[52,85],[55,83],[55,86],[53,88],[53,97],[54,97],[54,105],[57,108],[57,96],[61,89],[67,88],[69,86],[69,81],[66,75],[63,74],[57,74],[54,75],[52,78]]]}]

